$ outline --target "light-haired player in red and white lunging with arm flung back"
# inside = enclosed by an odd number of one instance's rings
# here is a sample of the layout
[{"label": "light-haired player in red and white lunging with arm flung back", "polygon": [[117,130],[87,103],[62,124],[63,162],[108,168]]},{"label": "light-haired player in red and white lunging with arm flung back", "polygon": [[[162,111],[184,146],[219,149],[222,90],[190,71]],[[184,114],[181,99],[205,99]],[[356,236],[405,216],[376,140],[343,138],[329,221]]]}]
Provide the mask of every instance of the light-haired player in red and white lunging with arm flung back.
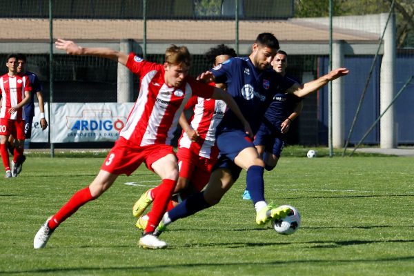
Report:
[{"label": "light-haired player in red and white lunging with arm flung back", "polygon": [[144,61],[133,52],[126,55],[109,48],[82,48],[73,41],[63,39],[58,39],[56,46],[69,55],[92,55],[121,63],[139,76],[140,88],[119,139],[103,161],[97,177],[46,220],[34,236],[34,248],[45,247],[50,235],[65,219],[108,190],[118,175],[130,175],[142,163],[161,177],[161,184],[157,187],[152,216],[139,239],[139,246],[165,248],[166,242],[155,237],[153,231],[164,215],[177,184],[177,159],[170,141],[188,99],[193,95],[222,99],[242,120],[246,131],[251,131],[250,126],[230,95],[188,76],[191,57],[185,46],[170,46],[166,50],[164,64]]}]

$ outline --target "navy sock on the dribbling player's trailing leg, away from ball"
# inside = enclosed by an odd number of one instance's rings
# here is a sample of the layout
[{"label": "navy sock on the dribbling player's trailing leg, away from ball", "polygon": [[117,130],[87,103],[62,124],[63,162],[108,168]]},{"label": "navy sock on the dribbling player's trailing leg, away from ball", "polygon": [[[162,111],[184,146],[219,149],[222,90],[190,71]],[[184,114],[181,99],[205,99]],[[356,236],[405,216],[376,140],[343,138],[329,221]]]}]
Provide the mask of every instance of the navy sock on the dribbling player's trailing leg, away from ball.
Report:
[{"label": "navy sock on the dribbling player's trailing leg, away from ball", "polygon": [[210,207],[210,204],[204,199],[204,193],[197,193],[182,201],[180,204],[168,211],[168,217],[171,221],[188,217],[201,210]]}]

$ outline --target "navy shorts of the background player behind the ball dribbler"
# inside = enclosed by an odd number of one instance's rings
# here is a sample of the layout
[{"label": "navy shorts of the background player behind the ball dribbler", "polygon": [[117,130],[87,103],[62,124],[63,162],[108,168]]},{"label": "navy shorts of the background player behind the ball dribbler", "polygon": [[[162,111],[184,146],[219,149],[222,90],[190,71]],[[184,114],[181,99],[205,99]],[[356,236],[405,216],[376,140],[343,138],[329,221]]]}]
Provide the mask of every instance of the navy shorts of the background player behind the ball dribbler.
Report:
[{"label": "navy shorts of the background player behind the ball dribbler", "polygon": [[280,131],[274,131],[262,124],[255,135],[255,146],[264,146],[266,152],[280,157],[284,148],[284,135]]}]

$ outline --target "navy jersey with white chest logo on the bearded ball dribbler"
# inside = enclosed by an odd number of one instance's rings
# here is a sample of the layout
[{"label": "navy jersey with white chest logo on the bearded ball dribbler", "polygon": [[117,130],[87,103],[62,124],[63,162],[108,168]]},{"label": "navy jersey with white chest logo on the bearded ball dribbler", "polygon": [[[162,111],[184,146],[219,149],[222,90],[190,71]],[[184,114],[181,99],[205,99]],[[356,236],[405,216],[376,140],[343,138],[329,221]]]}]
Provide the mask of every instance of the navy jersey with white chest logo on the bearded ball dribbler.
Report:
[{"label": "navy jersey with white chest logo on the bearded ball dribbler", "polygon": [[[247,58],[231,58],[211,70],[215,82],[226,83],[227,92],[233,96],[253,133],[257,132],[264,111],[273,95],[286,91],[295,81],[278,75],[273,69],[258,70]],[[244,130],[242,122],[227,110],[217,127],[217,133],[226,130]]]}]

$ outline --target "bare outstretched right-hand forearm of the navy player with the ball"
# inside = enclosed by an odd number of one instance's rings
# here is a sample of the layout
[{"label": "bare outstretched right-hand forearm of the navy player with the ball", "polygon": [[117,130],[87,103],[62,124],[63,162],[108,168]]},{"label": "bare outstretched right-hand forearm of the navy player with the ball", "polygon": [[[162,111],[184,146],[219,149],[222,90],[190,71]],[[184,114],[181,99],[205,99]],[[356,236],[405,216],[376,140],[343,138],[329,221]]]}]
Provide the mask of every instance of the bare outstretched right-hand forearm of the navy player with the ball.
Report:
[{"label": "bare outstretched right-hand forearm of the navy player with the ball", "polygon": [[346,68],[337,68],[331,72],[328,72],[328,74],[319,77],[319,79],[304,83],[303,86],[300,86],[299,83],[295,83],[293,86],[288,88],[286,92],[295,94],[297,97],[305,97],[306,95],[309,95],[312,92],[326,86],[329,81],[348,75],[348,72],[349,70]]}]

